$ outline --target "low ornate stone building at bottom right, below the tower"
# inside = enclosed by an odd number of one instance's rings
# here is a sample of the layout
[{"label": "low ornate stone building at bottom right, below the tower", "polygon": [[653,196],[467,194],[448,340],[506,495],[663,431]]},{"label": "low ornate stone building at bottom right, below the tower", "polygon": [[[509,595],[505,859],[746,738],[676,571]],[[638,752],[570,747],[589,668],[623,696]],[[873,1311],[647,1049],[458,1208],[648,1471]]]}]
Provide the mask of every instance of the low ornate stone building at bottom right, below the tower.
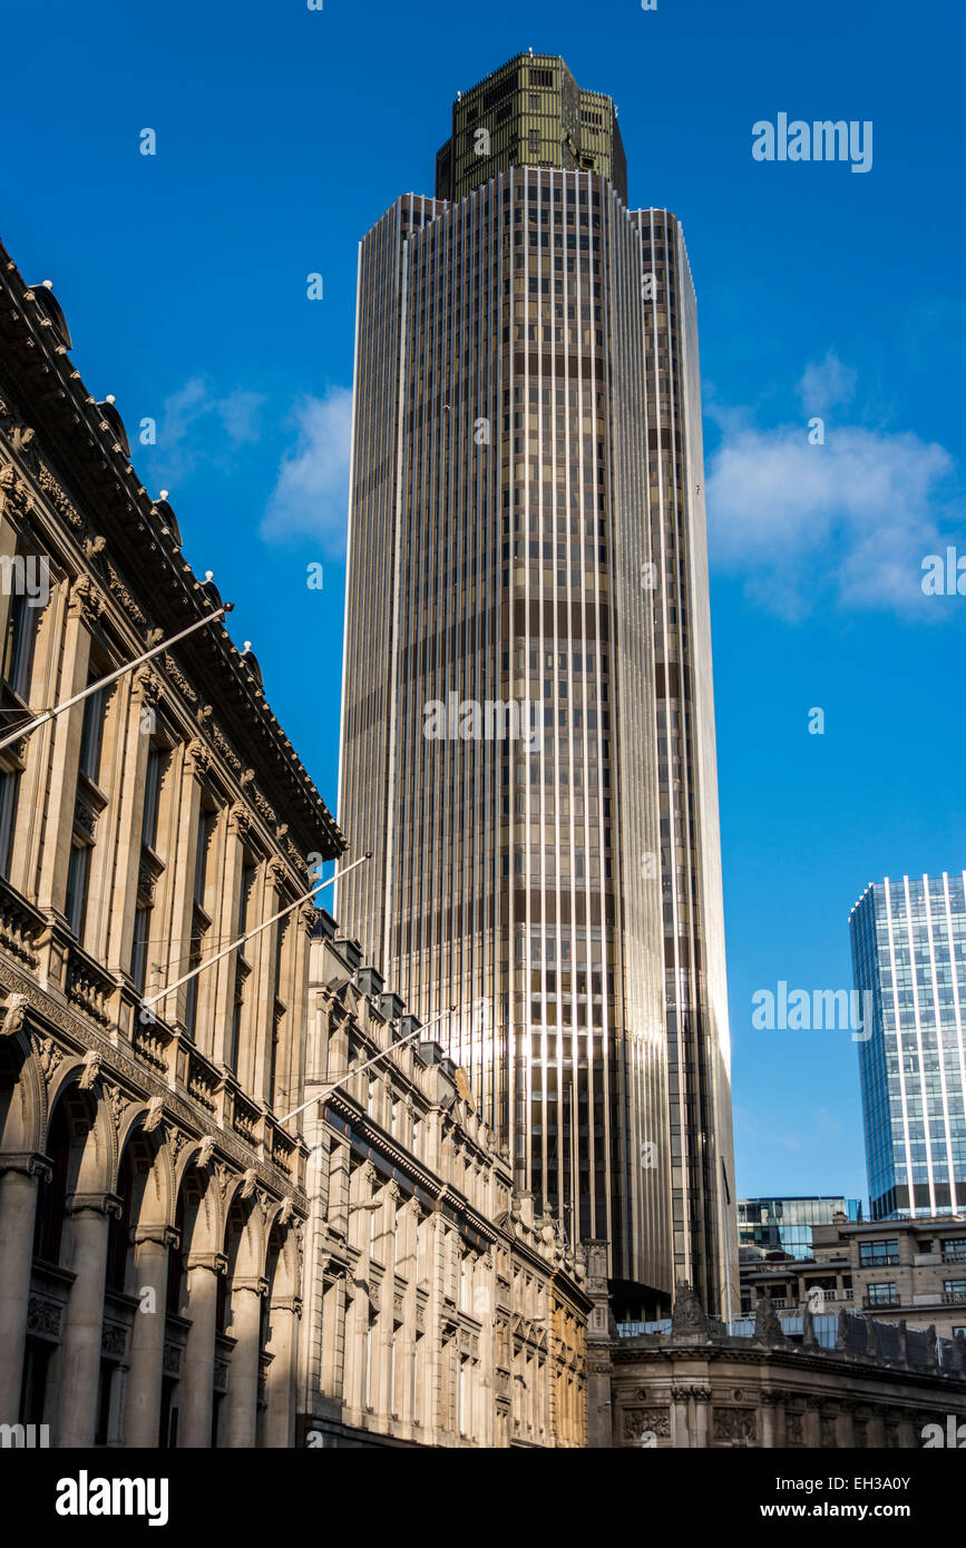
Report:
[{"label": "low ornate stone building at bottom right, below the tower", "polygon": [[726,1324],[678,1286],[667,1322],[591,1317],[588,1359],[591,1446],[916,1449],[966,1420],[966,1339],[845,1310],[780,1320],[760,1300]]}]

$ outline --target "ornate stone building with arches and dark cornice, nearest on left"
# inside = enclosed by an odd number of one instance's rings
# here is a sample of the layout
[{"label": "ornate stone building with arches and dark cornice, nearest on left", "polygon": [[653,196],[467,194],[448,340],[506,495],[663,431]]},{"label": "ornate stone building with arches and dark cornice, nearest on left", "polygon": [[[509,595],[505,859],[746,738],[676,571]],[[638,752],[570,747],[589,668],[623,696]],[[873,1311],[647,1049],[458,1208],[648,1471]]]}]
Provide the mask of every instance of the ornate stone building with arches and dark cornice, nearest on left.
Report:
[{"label": "ornate stone building with arches and dark cornice, nearest on left", "polygon": [[[70,351],[0,246],[0,735],[221,605]],[[0,751],[0,1423],[293,1443],[316,910],[218,950],[342,848],[221,621]]]}]

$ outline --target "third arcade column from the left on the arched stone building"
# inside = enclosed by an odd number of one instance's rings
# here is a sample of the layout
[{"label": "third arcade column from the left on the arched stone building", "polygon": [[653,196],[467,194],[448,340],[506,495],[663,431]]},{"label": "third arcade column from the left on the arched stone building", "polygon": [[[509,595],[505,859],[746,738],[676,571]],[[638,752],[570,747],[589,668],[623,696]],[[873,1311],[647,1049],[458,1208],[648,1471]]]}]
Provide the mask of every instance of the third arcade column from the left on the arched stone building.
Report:
[{"label": "third arcade column from the left on the arched stone building", "polygon": [[130,1370],[124,1402],[124,1444],[158,1446],[164,1330],[167,1316],[167,1254],[178,1241],[170,1226],[135,1231],[135,1294]]}]

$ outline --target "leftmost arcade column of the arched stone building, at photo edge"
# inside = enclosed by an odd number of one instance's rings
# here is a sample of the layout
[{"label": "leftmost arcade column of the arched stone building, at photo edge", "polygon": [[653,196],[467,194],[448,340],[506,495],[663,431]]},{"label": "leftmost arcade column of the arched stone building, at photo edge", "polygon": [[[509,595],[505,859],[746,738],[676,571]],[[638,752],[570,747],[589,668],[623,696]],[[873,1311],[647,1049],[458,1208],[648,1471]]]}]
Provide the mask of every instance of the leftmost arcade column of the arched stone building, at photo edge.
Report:
[{"label": "leftmost arcade column of the arched stone building, at photo edge", "polygon": [[37,1152],[0,1156],[0,1418],[8,1424],[20,1412],[39,1176],[46,1183],[53,1176],[46,1156]]}]

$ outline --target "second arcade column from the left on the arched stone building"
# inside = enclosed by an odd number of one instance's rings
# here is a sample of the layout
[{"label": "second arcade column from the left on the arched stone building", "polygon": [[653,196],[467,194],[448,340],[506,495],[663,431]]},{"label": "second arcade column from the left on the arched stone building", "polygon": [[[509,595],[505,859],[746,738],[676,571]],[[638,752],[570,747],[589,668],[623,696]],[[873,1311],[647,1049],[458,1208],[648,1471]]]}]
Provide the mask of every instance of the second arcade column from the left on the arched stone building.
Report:
[{"label": "second arcade column from the left on the arched stone building", "polygon": [[73,1194],[71,1285],[60,1341],[60,1399],[56,1446],[93,1446],[98,1423],[98,1376],[104,1330],[108,1215],[121,1215],[115,1194]]}]

